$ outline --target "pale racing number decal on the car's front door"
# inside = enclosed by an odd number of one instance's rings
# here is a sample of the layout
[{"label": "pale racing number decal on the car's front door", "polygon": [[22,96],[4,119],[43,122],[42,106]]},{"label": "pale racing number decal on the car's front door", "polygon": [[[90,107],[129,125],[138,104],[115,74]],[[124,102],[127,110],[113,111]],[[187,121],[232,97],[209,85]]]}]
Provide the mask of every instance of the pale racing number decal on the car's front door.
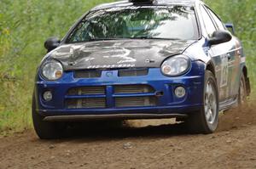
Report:
[{"label": "pale racing number decal on the car's front door", "polygon": [[225,87],[228,85],[229,78],[229,59],[226,54],[220,56],[221,59],[221,77],[220,77],[220,87]]}]

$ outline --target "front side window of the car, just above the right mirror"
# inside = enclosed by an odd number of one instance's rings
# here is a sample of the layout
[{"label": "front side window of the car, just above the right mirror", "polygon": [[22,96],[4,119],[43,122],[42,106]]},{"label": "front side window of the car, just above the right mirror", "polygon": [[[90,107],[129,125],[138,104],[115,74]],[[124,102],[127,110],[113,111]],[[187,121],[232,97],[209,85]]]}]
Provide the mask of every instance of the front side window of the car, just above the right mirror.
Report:
[{"label": "front side window of the car, just above the right mirror", "polygon": [[212,19],[210,18],[209,14],[207,13],[206,9],[201,6],[201,16],[203,18],[203,23],[207,30],[207,34],[209,37],[212,36],[213,31],[216,31],[214,24],[212,23]]}]

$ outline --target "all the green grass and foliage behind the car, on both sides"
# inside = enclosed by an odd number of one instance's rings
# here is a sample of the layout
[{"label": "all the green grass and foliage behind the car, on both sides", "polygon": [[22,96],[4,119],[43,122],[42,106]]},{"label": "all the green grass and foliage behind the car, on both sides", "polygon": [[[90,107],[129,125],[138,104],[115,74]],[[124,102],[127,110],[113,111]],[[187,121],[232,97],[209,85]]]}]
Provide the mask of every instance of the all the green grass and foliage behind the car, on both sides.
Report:
[{"label": "all the green grass and foliage behind the car, on both sides", "polygon": [[[47,37],[63,37],[69,27],[98,3],[111,0],[0,0],[0,132],[32,127],[31,99],[36,66]],[[255,84],[256,4],[254,0],[207,0],[224,20],[233,22],[247,54]],[[253,90],[255,86],[253,85]]]}]

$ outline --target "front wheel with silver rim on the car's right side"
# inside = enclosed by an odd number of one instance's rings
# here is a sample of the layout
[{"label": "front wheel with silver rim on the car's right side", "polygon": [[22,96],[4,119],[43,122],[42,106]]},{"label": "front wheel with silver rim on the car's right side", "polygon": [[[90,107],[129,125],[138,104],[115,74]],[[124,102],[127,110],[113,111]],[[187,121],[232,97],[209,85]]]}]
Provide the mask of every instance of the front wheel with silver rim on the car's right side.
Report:
[{"label": "front wheel with silver rim on the car's right side", "polygon": [[[207,91],[209,86],[207,85],[211,85],[212,87],[211,96],[207,95],[207,93],[209,93],[209,91]],[[199,112],[191,112],[189,114],[189,117],[185,121],[185,124],[189,132],[208,134],[208,133],[214,132],[218,127],[218,109],[219,109],[218,108],[219,106],[218,105],[218,87],[217,87],[215,77],[212,75],[212,72],[209,70],[206,70],[206,73],[205,73],[203,97],[204,97],[203,98],[204,104],[201,107],[201,110]],[[211,100],[213,100],[214,98],[215,98],[215,101],[212,101],[211,103]],[[212,112],[212,113],[209,113],[209,112]],[[210,117],[212,118],[209,118],[209,114],[211,114]]]}]

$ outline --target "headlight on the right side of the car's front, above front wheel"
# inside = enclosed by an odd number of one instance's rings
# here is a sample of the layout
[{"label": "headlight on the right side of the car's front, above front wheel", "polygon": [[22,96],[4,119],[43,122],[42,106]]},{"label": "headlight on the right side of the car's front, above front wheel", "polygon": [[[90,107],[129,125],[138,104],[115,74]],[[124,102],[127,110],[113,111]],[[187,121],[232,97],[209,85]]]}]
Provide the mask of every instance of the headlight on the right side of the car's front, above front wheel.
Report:
[{"label": "headlight on the right side of the car's front, above front wheel", "polygon": [[189,70],[190,59],[182,54],[166,59],[161,65],[161,71],[166,76],[180,76]]}]

